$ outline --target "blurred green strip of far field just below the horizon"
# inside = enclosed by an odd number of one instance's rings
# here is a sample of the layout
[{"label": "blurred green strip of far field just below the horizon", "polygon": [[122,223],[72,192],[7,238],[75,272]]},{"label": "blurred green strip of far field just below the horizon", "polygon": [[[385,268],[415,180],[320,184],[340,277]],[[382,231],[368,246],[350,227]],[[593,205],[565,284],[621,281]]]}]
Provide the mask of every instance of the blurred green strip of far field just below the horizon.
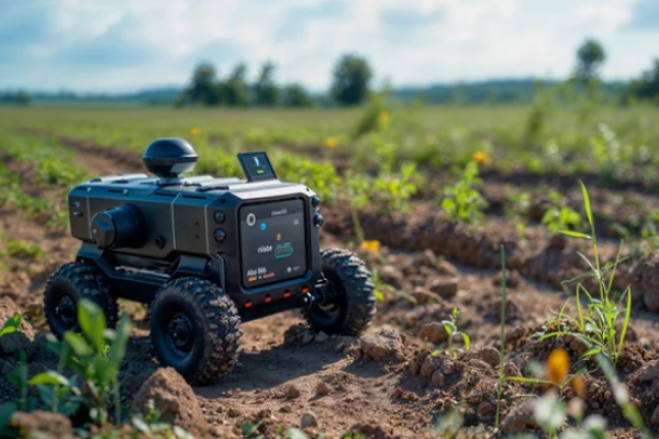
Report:
[{"label": "blurred green strip of far field just below the horizon", "polygon": [[[398,106],[387,109],[387,130],[356,138],[365,110],[177,110],[169,108],[33,106],[0,108],[0,128],[38,128],[93,140],[99,145],[143,149],[157,137],[179,136],[204,147],[295,147],[334,155],[368,150],[418,164],[463,165],[483,151],[499,169],[533,172],[584,170],[638,176],[639,166],[659,164],[659,110],[534,106]],[[615,135],[602,134],[601,123]],[[608,133],[608,132],[607,132]],[[604,145],[596,145],[600,138]],[[390,144],[388,148],[382,144]],[[382,151],[382,149],[387,149]],[[358,160],[357,166],[369,161]],[[617,169],[607,169],[615,167]],[[628,177],[628,176],[627,176]]]}]

